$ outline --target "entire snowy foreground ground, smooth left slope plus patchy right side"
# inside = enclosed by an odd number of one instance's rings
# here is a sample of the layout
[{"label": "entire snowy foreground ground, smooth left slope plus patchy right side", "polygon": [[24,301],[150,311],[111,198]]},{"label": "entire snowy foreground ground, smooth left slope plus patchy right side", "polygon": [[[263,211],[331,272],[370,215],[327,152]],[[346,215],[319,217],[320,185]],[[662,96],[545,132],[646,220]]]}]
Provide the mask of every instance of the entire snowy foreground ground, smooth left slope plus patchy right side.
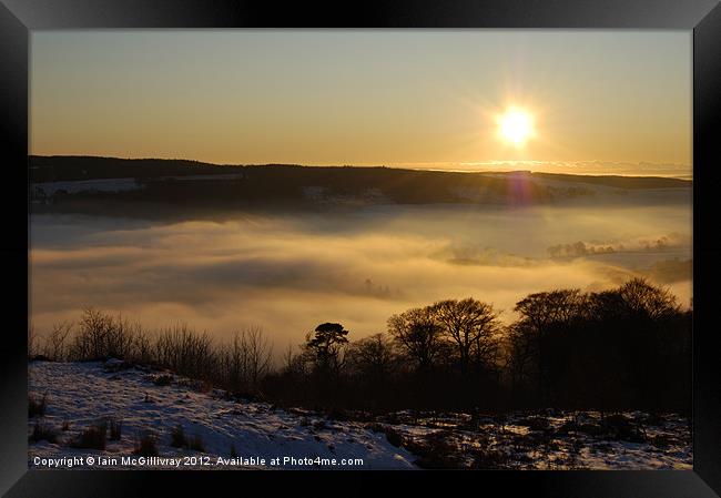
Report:
[{"label": "entire snowy foreground ground, smooth left slope plus patchy right side", "polygon": [[[92,457],[92,468],[173,469],[691,469],[693,460],[689,420],[674,414],[399,411],[339,421],[227,399],[197,382],[119,360],[32,362],[29,380],[31,399],[44,396],[47,408],[29,419],[28,435],[40,425],[55,436],[54,443],[30,438],[30,467],[68,467],[63,458],[71,457],[83,458],[74,460],[83,468]],[[122,423],[120,440],[108,440],[104,450],[73,447],[103,419]],[[200,438],[202,450],[171,445],[179,425],[189,440]],[[134,457],[146,431],[159,459],[123,460]]]}]

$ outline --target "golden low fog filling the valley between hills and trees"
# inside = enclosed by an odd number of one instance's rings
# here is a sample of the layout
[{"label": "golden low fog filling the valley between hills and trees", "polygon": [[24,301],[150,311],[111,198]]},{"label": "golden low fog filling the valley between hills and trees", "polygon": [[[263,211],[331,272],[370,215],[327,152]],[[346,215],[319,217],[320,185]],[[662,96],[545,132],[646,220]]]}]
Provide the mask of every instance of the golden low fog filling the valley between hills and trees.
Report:
[{"label": "golden low fog filling the valley between hills and trees", "polygon": [[507,322],[528,293],[597,291],[637,275],[683,306],[691,298],[690,202],[375,206],[221,223],[33,215],[30,245],[39,334],[92,306],[219,338],[257,325],[280,352],[323,322],[360,338],[441,298],[492,303]]}]

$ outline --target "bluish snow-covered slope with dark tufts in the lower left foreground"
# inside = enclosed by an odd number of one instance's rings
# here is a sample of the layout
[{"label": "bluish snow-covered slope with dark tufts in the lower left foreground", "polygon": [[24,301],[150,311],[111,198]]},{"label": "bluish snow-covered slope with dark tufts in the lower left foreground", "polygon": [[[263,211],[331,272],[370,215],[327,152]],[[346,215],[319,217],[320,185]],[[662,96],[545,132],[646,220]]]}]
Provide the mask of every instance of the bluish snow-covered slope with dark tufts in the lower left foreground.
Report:
[{"label": "bluish snow-covered slope with dark tufts in the lower left foreground", "polygon": [[[356,423],[335,423],[302,413],[290,414],[263,403],[236,403],[222,393],[202,393],[196,383],[173,376],[170,385],[155,385],[163,375],[140,369],[108,368],[101,363],[33,362],[29,366],[30,396],[47,396],[47,410],[28,424],[32,434],[35,421],[47,424],[57,434],[54,444],[30,443],[30,467],[39,458],[94,458],[94,468],[129,468],[122,457],[133,457],[138,435],[151,430],[158,440],[160,457],[176,463],[152,463],[152,468],[344,468],[408,469],[415,457],[388,443],[382,433],[373,433]],[[202,390],[202,389],[201,389]],[[73,439],[99,419],[112,417],[122,421],[118,441],[108,440],[105,450],[72,448]],[[67,430],[63,429],[67,423]],[[182,425],[189,439],[200,436],[205,451],[171,446],[171,430]],[[232,449],[232,447],[234,449]],[[236,455],[235,461],[232,456]],[[116,458],[119,465],[101,467],[99,457]],[[184,459],[183,457],[191,457]],[[200,457],[193,459],[192,457]],[[207,457],[207,458],[205,458]],[[219,464],[217,458],[225,461]],[[265,465],[241,458],[265,459]],[[315,460],[309,465],[292,465],[283,458]],[[317,458],[322,460],[316,460]],[[280,458],[278,465],[272,465]],[[323,460],[325,459],[325,461]],[[324,465],[336,459],[338,465]],[[362,459],[343,465],[343,459]],[[183,461],[185,460],[185,461]],[[229,461],[230,460],[230,461]],[[307,461],[306,460],[306,461]],[[204,464],[209,465],[204,465]],[[296,463],[297,464],[297,463]],[[319,465],[317,465],[319,464]]]}]

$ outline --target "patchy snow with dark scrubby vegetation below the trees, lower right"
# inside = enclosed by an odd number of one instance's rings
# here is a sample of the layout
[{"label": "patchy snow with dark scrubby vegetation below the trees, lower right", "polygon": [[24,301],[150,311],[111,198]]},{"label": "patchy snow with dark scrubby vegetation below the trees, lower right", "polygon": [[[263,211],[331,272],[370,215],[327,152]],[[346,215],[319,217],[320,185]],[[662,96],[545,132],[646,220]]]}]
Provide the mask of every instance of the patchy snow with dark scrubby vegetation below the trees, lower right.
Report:
[{"label": "patchy snow with dark scrubby vegetation below the trees, lower right", "polygon": [[392,419],[404,446],[413,449],[420,444],[431,451],[427,465],[539,470],[689,470],[693,466],[689,420],[676,414],[606,414],[606,425],[598,411],[560,410],[475,418],[399,413]]}]

